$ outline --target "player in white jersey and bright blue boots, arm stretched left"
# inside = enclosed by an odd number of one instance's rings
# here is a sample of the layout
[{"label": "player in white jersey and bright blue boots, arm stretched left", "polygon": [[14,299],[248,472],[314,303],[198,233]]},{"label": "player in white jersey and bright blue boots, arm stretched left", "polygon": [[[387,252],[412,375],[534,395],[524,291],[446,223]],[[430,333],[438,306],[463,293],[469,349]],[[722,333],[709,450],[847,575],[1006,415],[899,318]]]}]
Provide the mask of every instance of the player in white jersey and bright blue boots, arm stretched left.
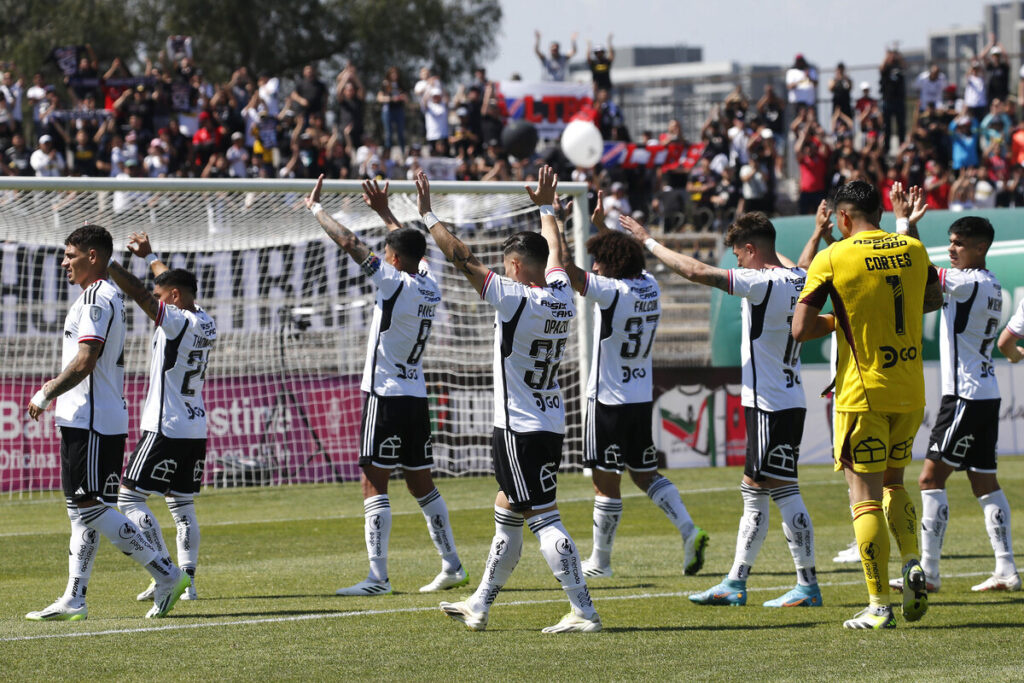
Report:
[{"label": "player in white jersey and bright blue boots, arm stretched left", "polygon": [[790,336],[793,309],[806,271],[775,252],[775,227],[760,212],[739,216],[725,236],[738,268],[724,270],[658,244],[644,227],[622,217],[623,227],[683,278],[742,297],[742,392],[746,465],[740,493],[736,553],[729,575],[690,600],[707,605],[746,604],[746,578],[768,535],[768,499],[782,516],[782,532],[797,568],[797,586],[766,607],[819,607],[814,568],[814,527],[800,495],[797,464],[804,432],[800,344]]}]

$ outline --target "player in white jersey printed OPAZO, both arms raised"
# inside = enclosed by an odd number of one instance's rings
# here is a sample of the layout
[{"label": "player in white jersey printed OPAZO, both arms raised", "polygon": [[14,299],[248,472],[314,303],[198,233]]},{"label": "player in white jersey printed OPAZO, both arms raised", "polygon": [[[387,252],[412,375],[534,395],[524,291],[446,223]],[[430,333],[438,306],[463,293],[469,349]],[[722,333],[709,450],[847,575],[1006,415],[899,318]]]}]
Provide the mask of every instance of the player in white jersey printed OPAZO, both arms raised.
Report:
[{"label": "player in white jersey printed OPAZO, both arms raised", "polygon": [[470,629],[485,629],[490,605],[519,562],[525,522],[571,605],[571,611],[544,633],[594,632],[601,630],[601,620],[587,589],[580,554],[562,526],[555,502],[565,434],[558,366],[575,304],[561,265],[561,240],[555,224],[558,179],[548,166],[538,175],[537,190],[527,191],[541,207],[541,234],[518,232],[505,240],[505,276],[484,267],[449,231],[430,210],[426,174],[421,172],[416,179],[420,215],[431,237],[496,311],[493,455],[499,492],[495,538],[476,592],[463,602],[440,606]]}]

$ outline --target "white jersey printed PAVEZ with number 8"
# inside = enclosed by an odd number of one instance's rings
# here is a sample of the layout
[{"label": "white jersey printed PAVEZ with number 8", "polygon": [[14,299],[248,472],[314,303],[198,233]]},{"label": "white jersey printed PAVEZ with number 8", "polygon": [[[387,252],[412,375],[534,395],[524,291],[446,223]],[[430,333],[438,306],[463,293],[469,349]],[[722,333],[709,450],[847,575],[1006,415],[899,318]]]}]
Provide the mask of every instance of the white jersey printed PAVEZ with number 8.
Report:
[{"label": "white jersey printed PAVEZ with number 8", "polygon": [[424,397],[421,358],[441,301],[437,281],[426,261],[420,261],[414,275],[373,255],[362,271],[377,286],[362,390],[378,396]]}]

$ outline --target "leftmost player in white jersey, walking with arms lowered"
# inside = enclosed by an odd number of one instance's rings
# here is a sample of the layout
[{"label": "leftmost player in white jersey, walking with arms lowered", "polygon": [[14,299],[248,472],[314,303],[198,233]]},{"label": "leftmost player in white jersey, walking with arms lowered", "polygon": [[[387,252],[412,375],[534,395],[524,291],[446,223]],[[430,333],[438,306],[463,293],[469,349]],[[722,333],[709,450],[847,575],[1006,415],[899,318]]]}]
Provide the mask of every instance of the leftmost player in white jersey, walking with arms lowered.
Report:
[{"label": "leftmost player in white jersey, walking with arms lowered", "polygon": [[98,546],[105,536],[141,564],[157,583],[147,618],[167,614],[188,587],[188,575],[161,557],[138,526],[112,507],[128,436],[124,399],[124,297],[106,279],[114,253],[111,233],[85,225],[65,241],[60,266],[68,282],[82,288],[63,327],[63,370],[43,384],[29,402],[38,420],[56,398],[60,428],[60,481],[71,518],[69,579],[65,594],[30,621],[78,621],[88,615],[85,594]]}]

